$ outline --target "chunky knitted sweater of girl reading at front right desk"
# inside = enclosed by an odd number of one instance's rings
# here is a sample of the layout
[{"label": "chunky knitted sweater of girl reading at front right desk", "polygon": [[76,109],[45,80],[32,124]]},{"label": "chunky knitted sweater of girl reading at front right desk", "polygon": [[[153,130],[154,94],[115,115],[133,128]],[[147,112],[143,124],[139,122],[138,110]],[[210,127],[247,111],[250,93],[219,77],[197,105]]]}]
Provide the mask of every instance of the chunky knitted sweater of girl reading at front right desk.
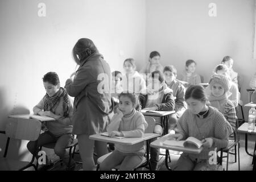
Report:
[{"label": "chunky knitted sweater of girl reading at front right desk", "polygon": [[206,118],[199,118],[191,113],[189,109],[185,110],[177,123],[183,140],[188,137],[195,137],[199,140],[212,138],[213,145],[210,148],[203,148],[200,154],[188,154],[197,159],[209,159],[209,151],[214,148],[223,148],[228,146],[228,130],[231,127],[224,116],[214,107],[209,106],[209,114]]}]

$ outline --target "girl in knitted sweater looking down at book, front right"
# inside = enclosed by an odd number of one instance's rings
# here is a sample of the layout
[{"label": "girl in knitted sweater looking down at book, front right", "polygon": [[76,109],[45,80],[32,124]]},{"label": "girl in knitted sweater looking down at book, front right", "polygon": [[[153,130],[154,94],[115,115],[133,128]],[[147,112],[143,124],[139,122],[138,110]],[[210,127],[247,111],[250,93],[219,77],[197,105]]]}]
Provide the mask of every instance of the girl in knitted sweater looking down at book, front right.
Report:
[{"label": "girl in knitted sweater looking down at book, front right", "polygon": [[[203,142],[203,150],[200,154],[188,154],[183,152],[177,161],[177,171],[207,170],[210,151],[217,147],[228,146],[228,131],[230,124],[214,107],[209,106],[203,86],[190,86],[185,92],[185,101],[188,109],[180,117],[177,125],[179,133],[168,136],[169,139],[185,140],[195,137]],[[217,160],[217,159],[216,159]]]}]

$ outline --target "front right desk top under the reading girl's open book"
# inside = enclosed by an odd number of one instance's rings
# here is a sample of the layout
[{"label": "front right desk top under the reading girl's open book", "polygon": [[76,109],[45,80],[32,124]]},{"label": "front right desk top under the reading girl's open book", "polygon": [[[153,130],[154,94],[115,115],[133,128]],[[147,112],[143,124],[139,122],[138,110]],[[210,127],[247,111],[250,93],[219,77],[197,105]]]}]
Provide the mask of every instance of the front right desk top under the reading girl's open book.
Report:
[{"label": "front right desk top under the reading girl's open book", "polygon": [[164,135],[162,138],[159,138],[155,140],[154,142],[150,143],[150,147],[154,148],[164,148],[167,150],[175,150],[175,151],[181,151],[189,154],[200,154],[200,152],[203,150],[203,147],[201,148],[189,148],[189,147],[179,147],[179,146],[167,146],[164,145],[164,141],[167,140],[167,137],[170,134]]}]

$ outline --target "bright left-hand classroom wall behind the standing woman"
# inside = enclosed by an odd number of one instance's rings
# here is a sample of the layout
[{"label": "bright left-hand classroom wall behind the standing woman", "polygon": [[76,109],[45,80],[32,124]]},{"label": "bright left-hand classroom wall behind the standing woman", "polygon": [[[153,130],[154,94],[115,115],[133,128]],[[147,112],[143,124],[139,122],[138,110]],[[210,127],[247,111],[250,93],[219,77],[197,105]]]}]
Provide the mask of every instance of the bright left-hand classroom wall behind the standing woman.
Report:
[{"label": "bright left-hand classroom wall behind the standing woman", "polygon": [[[38,16],[42,2],[46,17]],[[127,57],[144,60],[145,10],[145,0],[1,0],[0,130],[9,114],[32,112],[45,94],[45,73],[57,72],[64,86],[80,38],[94,41],[112,71],[122,71]],[[5,141],[0,135],[1,148]],[[26,144],[15,142],[11,155],[27,159]]]}]

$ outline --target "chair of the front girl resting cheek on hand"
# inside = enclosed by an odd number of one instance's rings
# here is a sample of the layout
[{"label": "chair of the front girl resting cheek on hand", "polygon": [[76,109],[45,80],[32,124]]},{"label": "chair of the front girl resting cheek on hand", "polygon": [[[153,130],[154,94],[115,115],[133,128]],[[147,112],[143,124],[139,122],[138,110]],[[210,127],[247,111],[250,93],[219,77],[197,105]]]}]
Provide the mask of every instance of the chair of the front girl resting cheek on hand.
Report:
[{"label": "chair of the front girl resting cheek on hand", "polygon": [[[153,133],[155,129],[155,119],[152,117],[144,116],[146,121],[147,121],[147,128],[144,131],[144,133]],[[146,167],[147,165],[150,168],[151,171],[151,166],[150,166],[150,160],[149,160],[149,152],[150,152],[150,140],[146,141],[146,156],[143,157],[142,162],[134,168],[134,171],[136,171],[138,168]],[[100,169],[100,164],[110,155],[112,152],[102,155],[100,158],[97,159],[97,171]],[[116,170],[120,169],[120,165],[115,167]]]}]

